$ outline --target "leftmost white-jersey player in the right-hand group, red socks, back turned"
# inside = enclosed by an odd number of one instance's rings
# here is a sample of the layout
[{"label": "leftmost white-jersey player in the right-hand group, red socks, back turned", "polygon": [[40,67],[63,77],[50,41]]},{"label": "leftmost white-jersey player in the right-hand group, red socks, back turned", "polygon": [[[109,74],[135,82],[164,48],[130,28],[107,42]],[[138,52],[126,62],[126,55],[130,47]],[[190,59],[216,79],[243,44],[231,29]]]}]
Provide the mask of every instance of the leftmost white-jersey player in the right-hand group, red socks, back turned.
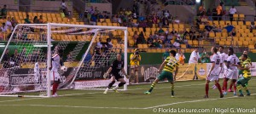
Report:
[{"label": "leftmost white-jersey player in the right-hand group, red socks, back turned", "polygon": [[220,72],[219,67],[222,64],[222,60],[219,57],[219,55],[217,54],[218,49],[215,47],[212,47],[212,58],[211,58],[211,62],[212,62],[212,66],[210,68],[210,71],[207,75],[207,83],[206,83],[206,95],[205,98],[208,98],[208,92],[209,92],[209,83],[212,81],[215,81],[215,86],[218,88],[219,94],[220,94],[220,98],[224,97],[224,94],[222,94],[220,85],[218,83],[218,75]]}]

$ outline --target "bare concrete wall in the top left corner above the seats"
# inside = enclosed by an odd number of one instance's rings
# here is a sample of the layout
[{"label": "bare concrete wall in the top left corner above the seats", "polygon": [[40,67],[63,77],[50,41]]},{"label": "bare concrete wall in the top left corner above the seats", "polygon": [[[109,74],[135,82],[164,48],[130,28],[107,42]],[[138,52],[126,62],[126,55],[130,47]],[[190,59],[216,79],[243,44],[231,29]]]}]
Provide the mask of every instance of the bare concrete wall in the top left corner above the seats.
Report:
[{"label": "bare concrete wall in the top left corner above the seats", "polygon": [[0,2],[1,8],[3,8],[3,5],[7,5],[7,9],[18,11],[19,10],[19,1],[18,0],[1,0]]}]

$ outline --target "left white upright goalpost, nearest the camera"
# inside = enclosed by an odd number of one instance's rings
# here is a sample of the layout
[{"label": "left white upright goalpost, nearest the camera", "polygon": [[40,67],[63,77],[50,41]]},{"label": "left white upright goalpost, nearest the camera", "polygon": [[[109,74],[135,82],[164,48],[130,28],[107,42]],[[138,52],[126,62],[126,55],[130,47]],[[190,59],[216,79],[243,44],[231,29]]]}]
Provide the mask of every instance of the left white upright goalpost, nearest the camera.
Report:
[{"label": "left white upright goalpost, nearest the camera", "polygon": [[50,97],[50,76],[49,76],[49,67],[50,65],[50,60],[51,60],[51,26],[50,24],[47,24],[47,97]]}]

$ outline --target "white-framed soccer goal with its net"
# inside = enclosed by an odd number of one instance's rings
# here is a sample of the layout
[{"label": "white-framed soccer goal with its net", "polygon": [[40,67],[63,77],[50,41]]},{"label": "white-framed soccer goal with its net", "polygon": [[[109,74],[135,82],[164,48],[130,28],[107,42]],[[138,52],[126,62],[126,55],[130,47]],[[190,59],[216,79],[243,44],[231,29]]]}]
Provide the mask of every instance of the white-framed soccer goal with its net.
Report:
[{"label": "white-framed soccer goal with its net", "polygon": [[102,90],[110,82],[103,74],[116,54],[122,54],[127,71],[127,35],[127,28],[120,26],[17,25],[9,41],[2,43],[0,96],[50,97],[49,67],[60,48],[64,51],[59,88]]}]

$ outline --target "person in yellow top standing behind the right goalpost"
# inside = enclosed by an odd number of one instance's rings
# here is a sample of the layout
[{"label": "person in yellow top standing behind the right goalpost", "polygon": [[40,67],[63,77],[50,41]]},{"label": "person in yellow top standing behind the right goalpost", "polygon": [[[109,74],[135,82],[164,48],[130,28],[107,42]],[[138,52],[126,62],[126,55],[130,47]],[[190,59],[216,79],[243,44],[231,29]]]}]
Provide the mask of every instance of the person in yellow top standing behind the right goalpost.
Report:
[{"label": "person in yellow top standing behind the right goalpost", "polygon": [[134,54],[130,55],[130,65],[131,65],[131,78],[130,83],[138,83],[138,66],[140,66],[140,61],[142,60],[139,50],[136,48]]}]

